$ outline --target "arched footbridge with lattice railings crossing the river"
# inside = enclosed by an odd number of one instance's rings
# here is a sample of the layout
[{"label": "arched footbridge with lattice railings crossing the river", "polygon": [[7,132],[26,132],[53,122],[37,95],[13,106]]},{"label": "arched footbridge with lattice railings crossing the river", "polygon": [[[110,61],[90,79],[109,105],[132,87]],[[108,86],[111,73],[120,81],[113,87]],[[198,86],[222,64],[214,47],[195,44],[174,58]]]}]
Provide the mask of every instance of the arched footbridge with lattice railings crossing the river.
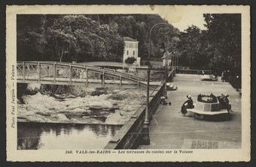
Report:
[{"label": "arched footbridge with lattice railings crossing the river", "polygon": [[[173,73],[173,71],[171,71]],[[133,85],[146,87],[147,79],[130,73],[87,64],[72,64],[53,61],[17,61],[18,83],[52,85]],[[161,85],[151,82],[151,88]]]}]

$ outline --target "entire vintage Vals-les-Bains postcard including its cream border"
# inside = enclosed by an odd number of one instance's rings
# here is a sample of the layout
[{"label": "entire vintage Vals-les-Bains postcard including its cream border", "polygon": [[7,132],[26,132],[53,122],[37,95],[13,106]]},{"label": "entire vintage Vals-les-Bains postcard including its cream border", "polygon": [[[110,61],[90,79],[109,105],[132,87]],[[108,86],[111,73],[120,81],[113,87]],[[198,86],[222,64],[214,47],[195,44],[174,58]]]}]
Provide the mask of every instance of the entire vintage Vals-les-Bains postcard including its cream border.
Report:
[{"label": "entire vintage Vals-les-Bains postcard including its cream border", "polygon": [[6,7],[8,161],[249,161],[250,7]]}]

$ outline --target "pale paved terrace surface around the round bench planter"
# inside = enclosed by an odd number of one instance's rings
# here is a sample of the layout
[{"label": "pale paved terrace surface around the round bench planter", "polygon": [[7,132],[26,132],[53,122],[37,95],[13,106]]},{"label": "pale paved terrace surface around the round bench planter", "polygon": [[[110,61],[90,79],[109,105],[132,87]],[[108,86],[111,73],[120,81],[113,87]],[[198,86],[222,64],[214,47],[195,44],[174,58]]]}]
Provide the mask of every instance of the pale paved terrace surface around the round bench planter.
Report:
[{"label": "pale paved terrace surface around the round bench planter", "polygon": [[[160,105],[150,126],[151,145],[139,149],[190,149],[190,148],[240,148],[241,147],[241,97],[227,82],[201,81],[198,75],[177,74],[173,83],[176,91],[168,91],[172,106]],[[200,120],[192,115],[181,115],[182,103],[190,94],[197,100],[198,94],[229,94],[230,119]]]}]

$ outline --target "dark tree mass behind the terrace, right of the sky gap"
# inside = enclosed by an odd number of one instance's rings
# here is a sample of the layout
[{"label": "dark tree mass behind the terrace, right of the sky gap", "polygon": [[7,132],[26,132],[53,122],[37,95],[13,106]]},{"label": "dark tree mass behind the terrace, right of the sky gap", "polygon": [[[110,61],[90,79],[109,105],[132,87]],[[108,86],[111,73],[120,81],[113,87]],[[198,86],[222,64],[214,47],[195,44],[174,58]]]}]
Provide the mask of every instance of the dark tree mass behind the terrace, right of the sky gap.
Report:
[{"label": "dark tree mass behind the terrace, right of the sky gap", "polygon": [[241,67],[240,14],[204,14],[206,30],[190,26],[181,32],[178,49],[179,62],[196,69],[232,70]]}]

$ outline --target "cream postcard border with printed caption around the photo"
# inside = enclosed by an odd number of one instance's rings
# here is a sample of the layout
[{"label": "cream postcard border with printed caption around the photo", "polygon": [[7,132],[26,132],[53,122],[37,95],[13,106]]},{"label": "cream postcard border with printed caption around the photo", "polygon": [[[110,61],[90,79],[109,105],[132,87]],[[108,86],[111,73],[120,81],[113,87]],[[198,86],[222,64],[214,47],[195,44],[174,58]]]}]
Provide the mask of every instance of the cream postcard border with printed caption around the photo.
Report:
[{"label": "cream postcard border with printed caption around the photo", "polygon": [[[192,150],[193,154],[65,154],[66,150],[17,150],[17,97],[16,91],[16,15],[32,13],[159,13],[173,15],[178,22],[184,12],[242,14],[242,148],[217,150]],[[250,160],[250,7],[236,5],[32,5],[7,6],[6,9],[6,97],[7,97],[7,160],[8,161],[248,161]],[[172,22],[169,22],[172,23]],[[13,71],[14,70],[14,71]],[[14,76],[12,75],[14,72]],[[14,78],[13,78],[14,77]],[[13,94],[14,91],[14,94]],[[13,109],[14,108],[14,109]],[[75,150],[74,150],[75,151]],[[125,150],[124,150],[125,151]],[[136,150],[140,151],[140,150]],[[147,152],[148,151],[148,152]],[[166,150],[161,150],[166,151]]]}]

